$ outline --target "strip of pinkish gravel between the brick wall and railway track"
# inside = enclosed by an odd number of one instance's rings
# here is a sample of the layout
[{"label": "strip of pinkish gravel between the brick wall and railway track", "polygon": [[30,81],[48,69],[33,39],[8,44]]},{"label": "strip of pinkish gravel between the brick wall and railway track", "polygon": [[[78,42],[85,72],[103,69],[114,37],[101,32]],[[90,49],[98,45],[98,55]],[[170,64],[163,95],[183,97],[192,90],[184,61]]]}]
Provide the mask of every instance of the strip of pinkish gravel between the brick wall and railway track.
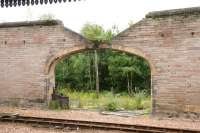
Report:
[{"label": "strip of pinkish gravel between the brick wall and railway track", "polygon": [[0,113],[19,113],[26,116],[37,117],[50,117],[61,119],[73,119],[73,120],[88,120],[99,122],[114,122],[124,124],[140,124],[150,126],[161,126],[169,128],[181,128],[181,129],[198,129],[200,130],[200,121],[184,120],[184,119],[166,119],[151,117],[148,115],[135,116],[135,117],[121,117],[114,115],[102,115],[95,111],[84,110],[66,110],[66,111],[51,111],[41,109],[22,109],[12,107],[0,107]]}]

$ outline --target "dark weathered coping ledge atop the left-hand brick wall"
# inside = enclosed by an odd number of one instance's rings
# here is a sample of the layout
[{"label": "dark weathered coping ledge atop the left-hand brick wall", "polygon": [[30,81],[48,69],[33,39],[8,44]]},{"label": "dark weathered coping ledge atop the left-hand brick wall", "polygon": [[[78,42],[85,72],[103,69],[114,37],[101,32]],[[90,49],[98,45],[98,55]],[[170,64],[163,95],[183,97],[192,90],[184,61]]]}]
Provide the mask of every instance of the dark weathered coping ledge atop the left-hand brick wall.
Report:
[{"label": "dark weathered coping ledge atop the left-hand brick wall", "polygon": [[39,20],[39,21],[23,21],[23,22],[6,22],[0,23],[0,28],[24,27],[24,26],[49,26],[62,25],[60,20]]}]

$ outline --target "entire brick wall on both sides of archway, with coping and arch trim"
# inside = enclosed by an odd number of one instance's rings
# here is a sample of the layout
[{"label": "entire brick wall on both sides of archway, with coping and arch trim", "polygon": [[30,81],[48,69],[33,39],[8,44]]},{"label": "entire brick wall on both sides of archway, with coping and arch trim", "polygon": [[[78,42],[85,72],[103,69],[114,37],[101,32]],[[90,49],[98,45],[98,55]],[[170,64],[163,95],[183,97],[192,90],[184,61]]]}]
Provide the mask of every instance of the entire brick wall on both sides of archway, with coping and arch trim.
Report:
[{"label": "entire brick wall on both sides of archway, with coping and arch trim", "polygon": [[[200,113],[200,9],[149,13],[100,48],[143,57],[152,74],[152,111]],[[0,101],[48,101],[56,62],[90,48],[59,21],[0,24]],[[20,100],[21,99],[21,100]]]}]

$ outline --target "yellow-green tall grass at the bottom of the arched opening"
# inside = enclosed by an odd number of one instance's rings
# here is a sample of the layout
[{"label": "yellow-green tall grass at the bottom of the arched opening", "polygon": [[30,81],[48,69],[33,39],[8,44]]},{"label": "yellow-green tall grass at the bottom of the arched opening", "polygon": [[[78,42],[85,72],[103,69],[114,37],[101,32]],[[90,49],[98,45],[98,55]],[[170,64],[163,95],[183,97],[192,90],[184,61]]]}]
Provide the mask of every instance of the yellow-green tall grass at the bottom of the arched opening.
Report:
[{"label": "yellow-green tall grass at the bottom of the arched opening", "polygon": [[95,92],[75,91],[66,88],[57,89],[58,93],[70,98],[70,108],[101,110],[147,110],[150,111],[150,96],[145,92],[130,97],[127,93],[115,94],[104,91],[96,97]]}]

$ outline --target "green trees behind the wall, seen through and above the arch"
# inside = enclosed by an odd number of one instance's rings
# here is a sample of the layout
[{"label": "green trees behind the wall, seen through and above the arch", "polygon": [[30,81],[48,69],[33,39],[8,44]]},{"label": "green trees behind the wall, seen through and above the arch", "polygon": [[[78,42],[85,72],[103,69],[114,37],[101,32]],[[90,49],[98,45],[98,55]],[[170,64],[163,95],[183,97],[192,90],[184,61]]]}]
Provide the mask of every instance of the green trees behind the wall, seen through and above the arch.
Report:
[{"label": "green trees behind the wall, seen through and above the arch", "polygon": [[110,43],[117,27],[105,31],[94,24],[84,26],[81,32],[92,42],[94,49],[66,56],[56,65],[58,88],[96,90],[97,96],[100,90],[129,95],[141,90],[150,93],[151,75],[147,61],[120,51],[98,49],[101,43]]}]

